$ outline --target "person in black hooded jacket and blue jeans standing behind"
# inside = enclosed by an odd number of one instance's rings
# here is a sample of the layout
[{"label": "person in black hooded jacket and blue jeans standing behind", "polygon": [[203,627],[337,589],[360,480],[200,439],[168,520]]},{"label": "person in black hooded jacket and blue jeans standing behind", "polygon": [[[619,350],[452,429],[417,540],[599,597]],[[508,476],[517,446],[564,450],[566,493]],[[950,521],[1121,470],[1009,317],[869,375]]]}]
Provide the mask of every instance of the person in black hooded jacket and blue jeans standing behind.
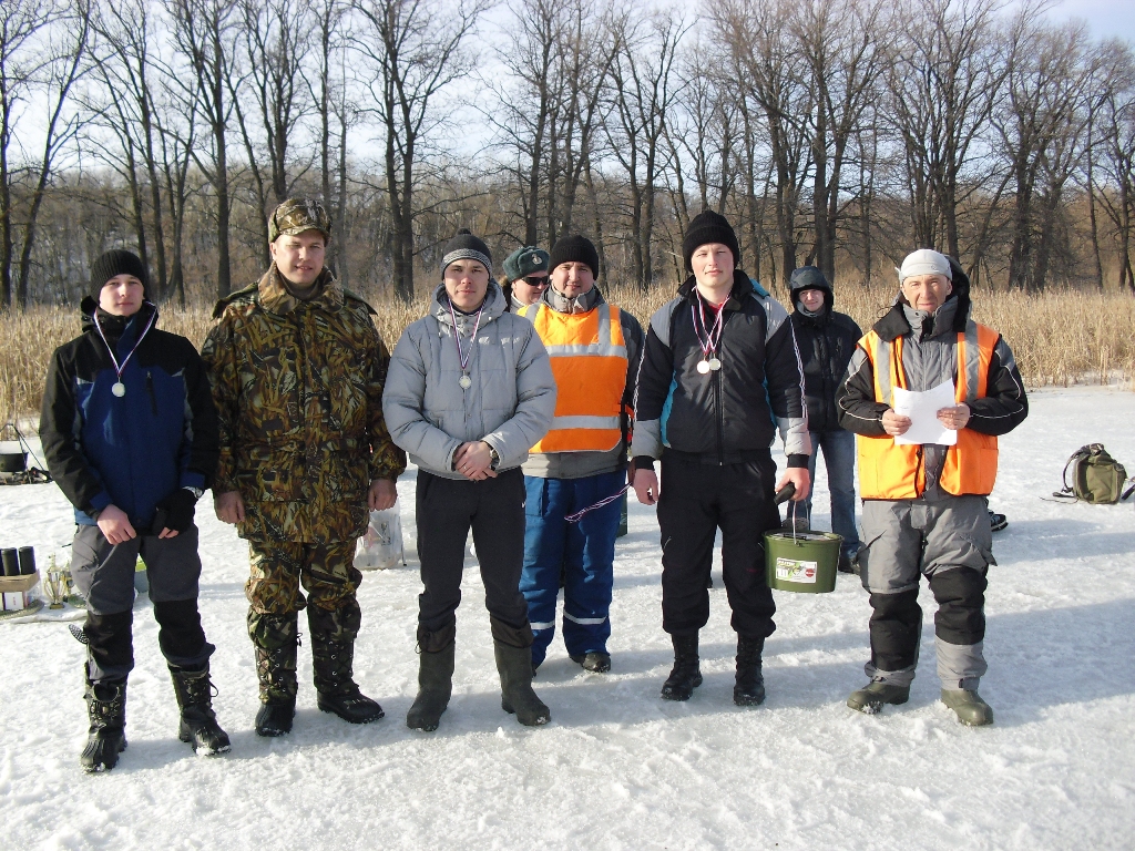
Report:
[{"label": "person in black hooded jacket and blue jeans standing behind", "polygon": [[[863,331],[846,313],[832,307],[832,285],[814,266],[794,270],[789,277],[792,295],[792,330],[804,365],[804,393],[808,399],[808,431],[812,455],[808,475],[816,481],[816,457],[824,450],[827,490],[832,505],[832,531],[843,538],[839,568],[851,572],[861,546],[855,523],[855,435],[840,427],[835,390]],[[804,500],[804,520],[812,524],[812,494]],[[791,513],[789,514],[791,519]]]}]

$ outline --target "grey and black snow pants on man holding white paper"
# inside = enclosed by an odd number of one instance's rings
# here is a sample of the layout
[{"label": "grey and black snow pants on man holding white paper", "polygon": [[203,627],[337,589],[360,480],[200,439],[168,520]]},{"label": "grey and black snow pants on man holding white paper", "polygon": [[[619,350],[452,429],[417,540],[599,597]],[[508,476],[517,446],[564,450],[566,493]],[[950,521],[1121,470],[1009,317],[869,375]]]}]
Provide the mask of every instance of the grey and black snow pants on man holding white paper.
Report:
[{"label": "grey and black snow pants on man holding white paper", "polygon": [[909,685],[918,664],[924,574],[938,600],[938,675],[943,689],[976,689],[985,673],[985,574],[993,561],[989,504],[982,496],[938,491],[922,499],[866,499],[859,555],[871,592],[867,676]]}]

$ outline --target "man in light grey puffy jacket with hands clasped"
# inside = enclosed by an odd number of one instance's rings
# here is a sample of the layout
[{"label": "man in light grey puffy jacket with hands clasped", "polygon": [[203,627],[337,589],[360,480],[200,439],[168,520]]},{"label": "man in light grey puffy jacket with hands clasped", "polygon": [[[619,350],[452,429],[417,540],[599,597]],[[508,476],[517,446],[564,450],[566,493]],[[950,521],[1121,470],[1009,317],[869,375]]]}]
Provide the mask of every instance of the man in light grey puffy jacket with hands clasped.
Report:
[{"label": "man in light grey puffy jacket with hands clasped", "polygon": [[501,707],[521,724],[550,719],[532,691],[532,629],[520,592],[528,449],[548,430],[556,386],[532,323],[505,311],[488,246],[460,230],[442,256],[429,313],[402,334],[382,408],[418,465],[414,516],[418,697],[406,726],[434,731],[453,691],[456,609],[470,526],[485,582]]}]

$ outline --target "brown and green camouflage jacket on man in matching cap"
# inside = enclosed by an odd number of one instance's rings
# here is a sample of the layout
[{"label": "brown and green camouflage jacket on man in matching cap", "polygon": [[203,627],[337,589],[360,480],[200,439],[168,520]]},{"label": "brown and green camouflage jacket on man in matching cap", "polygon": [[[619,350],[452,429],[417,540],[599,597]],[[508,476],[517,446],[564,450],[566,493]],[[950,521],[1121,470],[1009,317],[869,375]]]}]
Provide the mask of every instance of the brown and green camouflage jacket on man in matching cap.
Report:
[{"label": "brown and green camouflage jacket on man in matching cap", "polygon": [[300,301],[272,264],[218,303],[201,351],[220,420],[213,492],[239,491],[242,538],[356,538],[370,481],[406,466],[382,419],[390,355],[373,311],[326,270],[318,287]]}]

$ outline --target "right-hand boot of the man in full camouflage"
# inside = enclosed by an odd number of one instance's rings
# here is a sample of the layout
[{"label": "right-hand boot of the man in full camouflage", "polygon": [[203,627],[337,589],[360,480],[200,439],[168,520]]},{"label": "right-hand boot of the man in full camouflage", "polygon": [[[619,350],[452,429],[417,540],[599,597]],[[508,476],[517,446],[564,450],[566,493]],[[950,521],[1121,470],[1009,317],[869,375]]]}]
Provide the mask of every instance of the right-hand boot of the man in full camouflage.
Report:
[{"label": "right-hand boot of the man in full camouflage", "polygon": [[359,604],[353,607],[322,609],[308,607],[311,626],[311,660],[317,703],[351,724],[370,724],[386,713],[378,701],[359,690],[354,681],[354,642],[362,620]]}]

